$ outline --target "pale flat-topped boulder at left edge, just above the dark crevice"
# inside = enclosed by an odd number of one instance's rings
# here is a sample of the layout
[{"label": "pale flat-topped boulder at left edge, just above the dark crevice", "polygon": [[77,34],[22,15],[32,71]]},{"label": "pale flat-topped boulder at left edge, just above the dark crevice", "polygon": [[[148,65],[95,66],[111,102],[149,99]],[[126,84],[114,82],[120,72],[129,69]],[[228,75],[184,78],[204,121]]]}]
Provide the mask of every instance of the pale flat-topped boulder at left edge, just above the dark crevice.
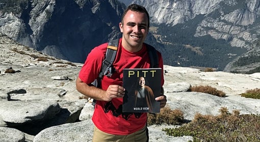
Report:
[{"label": "pale flat-topped boulder at left edge, just above the dark crevice", "polygon": [[[60,112],[57,101],[1,101],[2,126],[17,126],[53,118]],[[5,124],[5,125],[3,125]]]}]

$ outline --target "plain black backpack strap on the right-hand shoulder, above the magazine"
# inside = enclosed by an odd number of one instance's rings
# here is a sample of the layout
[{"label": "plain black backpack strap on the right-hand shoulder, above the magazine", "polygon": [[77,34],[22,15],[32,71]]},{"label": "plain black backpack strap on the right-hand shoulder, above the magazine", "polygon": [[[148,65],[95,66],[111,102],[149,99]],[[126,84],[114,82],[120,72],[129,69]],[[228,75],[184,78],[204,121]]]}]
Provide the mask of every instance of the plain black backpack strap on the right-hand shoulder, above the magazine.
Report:
[{"label": "plain black backpack strap on the right-hand shoulder, above the magazine", "polygon": [[148,55],[150,58],[150,63],[151,63],[150,68],[158,68],[159,67],[159,57],[157,54],[157,50],[148,44],[145,44],[145,45],[146,45]]}]

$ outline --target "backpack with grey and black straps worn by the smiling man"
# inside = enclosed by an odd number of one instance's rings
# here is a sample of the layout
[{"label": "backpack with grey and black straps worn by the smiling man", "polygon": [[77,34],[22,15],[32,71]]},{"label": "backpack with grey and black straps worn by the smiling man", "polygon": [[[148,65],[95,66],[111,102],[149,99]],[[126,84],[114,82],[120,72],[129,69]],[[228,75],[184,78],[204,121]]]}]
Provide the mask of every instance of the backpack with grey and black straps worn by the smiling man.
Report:
[{"label": "backpack with grey and black straps worn by the smiling man", "polygon": [[[116,58],[118,44],[119,44],[119,39],[111,40],[108,43],[106,57],[105,57],[105,60],[103,60],[103,62],[102,62],[102,68],[100,70],[98,78],[94,82],[92,82],[92,85],[100,88],[102,77],[103,76],[111,77],[111,75],[115,72],[113,62]],[[152,47],[148,44],[145,44],[145,45],[146,45],[148,55],[149,55],[149,58],[150,58],[150,68],[158,68],[159,67],[159,59],[158,59],[157,50],[155,50],[154,47]],[[92,105],[95,106],[95,104],[96,104],[96,100],[94,99],[93,102],[92,102]]]}]

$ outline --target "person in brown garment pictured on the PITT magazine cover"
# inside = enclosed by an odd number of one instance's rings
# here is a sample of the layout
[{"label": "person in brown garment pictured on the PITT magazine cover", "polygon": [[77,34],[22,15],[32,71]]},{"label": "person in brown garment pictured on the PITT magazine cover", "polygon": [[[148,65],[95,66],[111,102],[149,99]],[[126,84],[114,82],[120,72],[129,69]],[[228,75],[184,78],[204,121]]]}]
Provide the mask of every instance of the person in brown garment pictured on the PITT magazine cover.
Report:
[{"label": "person in brown garment pictured on the PITT magazine cover", "polygon": [[135,90],[135,107],[148,107],[149,112],[153,111],[152,104],[155,101],[152,89],[145,85],[144,77],[138,78]]}]

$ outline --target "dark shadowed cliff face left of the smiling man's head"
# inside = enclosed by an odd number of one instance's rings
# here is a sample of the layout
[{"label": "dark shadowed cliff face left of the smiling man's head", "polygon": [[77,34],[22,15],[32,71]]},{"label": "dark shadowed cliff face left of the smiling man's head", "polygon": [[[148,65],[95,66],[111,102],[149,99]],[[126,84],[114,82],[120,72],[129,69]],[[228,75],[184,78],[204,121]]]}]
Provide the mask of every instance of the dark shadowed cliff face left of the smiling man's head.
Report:
[{"label": "dark shadowed cliff face left of the smiling man's head", "polygon": [[73,62],[84,61],[94,46],[119,37],[118,23],[125,7],[114,0],[34,0],[14,5],[20,6],[20,11],[8,11],[9,4],[2,5],[1,32],[23,45]]}]

